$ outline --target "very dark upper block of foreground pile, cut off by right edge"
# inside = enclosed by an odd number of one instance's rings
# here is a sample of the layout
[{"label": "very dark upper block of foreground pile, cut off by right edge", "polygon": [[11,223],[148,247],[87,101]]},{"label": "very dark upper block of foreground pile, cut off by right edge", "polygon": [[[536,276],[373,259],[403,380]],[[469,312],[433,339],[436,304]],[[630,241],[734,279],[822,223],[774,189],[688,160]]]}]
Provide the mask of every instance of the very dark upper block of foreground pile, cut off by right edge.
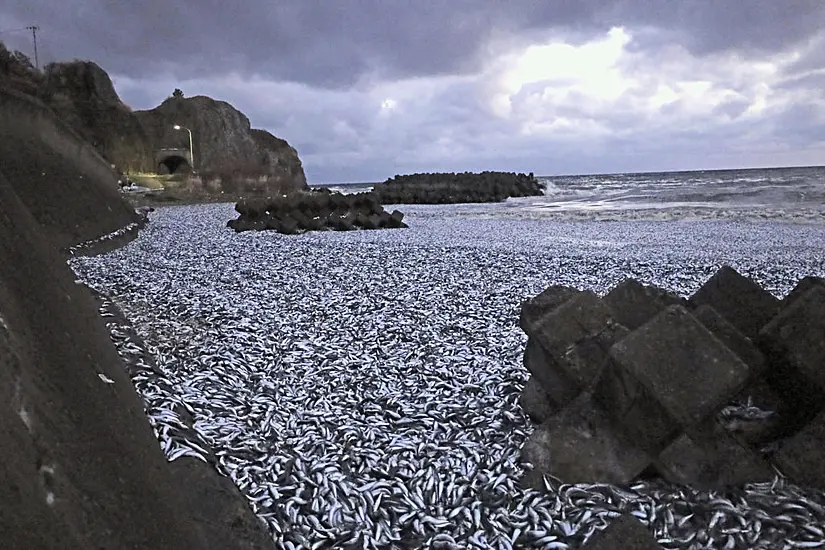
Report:
[{"label": "very dark upper block of foreground pile, cut off by right edge", "polygon": [[825,406],[825,287],[813,286],[759,333],[771,362],[765,376],[801,428]]}]

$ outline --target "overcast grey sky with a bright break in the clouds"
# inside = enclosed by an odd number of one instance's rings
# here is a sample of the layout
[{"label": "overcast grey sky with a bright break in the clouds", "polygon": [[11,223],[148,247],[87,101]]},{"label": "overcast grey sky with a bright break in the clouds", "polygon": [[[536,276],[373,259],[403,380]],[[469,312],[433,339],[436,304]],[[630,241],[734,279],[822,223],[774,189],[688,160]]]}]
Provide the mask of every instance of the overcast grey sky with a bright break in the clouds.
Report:
[{"label": "overcast grey sky with a bright break in the clouds", "polygon": [[825,0],[6,0],[0,40],[181,88],[310,183],[825,164]]}]

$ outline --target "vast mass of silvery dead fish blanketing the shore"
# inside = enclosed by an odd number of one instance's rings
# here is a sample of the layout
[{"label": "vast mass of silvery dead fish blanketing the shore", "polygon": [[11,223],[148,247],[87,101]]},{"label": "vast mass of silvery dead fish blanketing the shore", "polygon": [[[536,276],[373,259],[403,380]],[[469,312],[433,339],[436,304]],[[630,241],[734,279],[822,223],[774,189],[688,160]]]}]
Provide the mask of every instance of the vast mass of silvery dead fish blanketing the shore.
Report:
[{"label": "vast mass of silvery dead fish blanketing the shore", "polygon": [[577,548],[624,512],[665,548],[825,545],[825,497],[781,477],[726,494],[520,489],[533,427],[517,325],[549,284],[634,276],[687,295],[722,259],[781,295],[825,272],[822,233],[539,224],[507,204],[300,237],[236,235],[227,205],[164,208],[127,247],[70,263],[132,322],[109,329],[167,457],[231,478],[281,548]]}]

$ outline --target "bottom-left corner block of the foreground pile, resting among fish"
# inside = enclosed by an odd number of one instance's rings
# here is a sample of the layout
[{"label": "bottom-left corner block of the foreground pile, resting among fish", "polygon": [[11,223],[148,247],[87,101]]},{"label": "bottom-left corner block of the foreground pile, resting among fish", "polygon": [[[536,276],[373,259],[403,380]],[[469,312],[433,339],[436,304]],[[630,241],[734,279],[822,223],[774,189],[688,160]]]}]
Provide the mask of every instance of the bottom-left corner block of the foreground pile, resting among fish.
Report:
[{"label": "bottom-left corner block of the foreground pile, resting among fish", "polygon": [[565,483],[629,483],[651,462],[615,428],[588,392],[539,426],[522,448],[533,464],[526,484],[543,490],[542,476]]}]

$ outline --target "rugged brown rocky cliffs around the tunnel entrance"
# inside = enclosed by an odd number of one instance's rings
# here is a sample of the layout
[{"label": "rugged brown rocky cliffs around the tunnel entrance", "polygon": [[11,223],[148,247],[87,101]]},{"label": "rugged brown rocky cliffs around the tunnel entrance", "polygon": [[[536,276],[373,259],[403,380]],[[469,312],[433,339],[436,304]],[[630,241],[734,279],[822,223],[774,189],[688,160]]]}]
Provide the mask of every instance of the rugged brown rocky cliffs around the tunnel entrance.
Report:
[{"label": "rugged brown rocky cliffs around the tunnel entrance", "polygon": [[[168,171],[156,152],[188,149],[187,132],[173,128],[179,124],[192,130],[197,185],[263,194],[306,188],[297,151],[269,132],[252,129],[249,119],[224,101],[170,97],[154,109],[132,111],[95,63],[52,63],[39,72],[2,44],[0,85],[42,101],[118,170]],[[191,170],[188,163],[180,168]]]}]

